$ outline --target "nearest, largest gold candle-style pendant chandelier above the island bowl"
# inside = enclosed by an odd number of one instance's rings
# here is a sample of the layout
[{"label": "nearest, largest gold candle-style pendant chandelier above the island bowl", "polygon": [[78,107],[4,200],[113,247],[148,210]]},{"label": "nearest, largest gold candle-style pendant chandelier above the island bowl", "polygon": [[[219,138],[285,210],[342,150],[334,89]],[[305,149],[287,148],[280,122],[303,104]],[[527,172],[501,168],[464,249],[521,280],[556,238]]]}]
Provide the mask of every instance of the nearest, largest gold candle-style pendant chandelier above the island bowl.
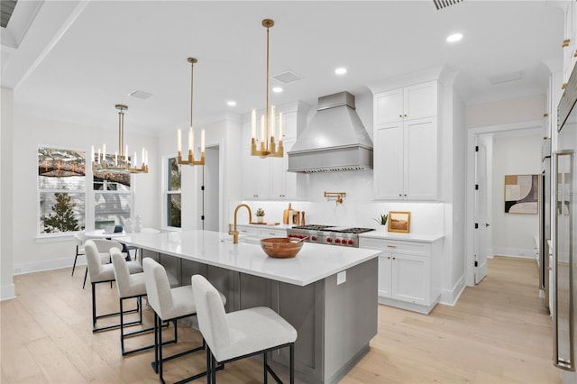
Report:
[{"label": "nearest, largest gold candle-style pendant chandelier above the island bowl", "polygon": [[262,26],[267,29],[267,105],[266,115],[261,115],[261,145],[259,150],[257,150],[256,140],[256,110],[252,109],[251,111],[251,155],[260,156],[261,158],[281,158],[284,156],[282,147],[282,113],[279,113],[279,144],[276,145],[274,141],[276,124],[275,107],[274,105],[270,105],[269,107],[269,30],[273,25],[274,22],[270,19],[264,19],[262,21]]}]

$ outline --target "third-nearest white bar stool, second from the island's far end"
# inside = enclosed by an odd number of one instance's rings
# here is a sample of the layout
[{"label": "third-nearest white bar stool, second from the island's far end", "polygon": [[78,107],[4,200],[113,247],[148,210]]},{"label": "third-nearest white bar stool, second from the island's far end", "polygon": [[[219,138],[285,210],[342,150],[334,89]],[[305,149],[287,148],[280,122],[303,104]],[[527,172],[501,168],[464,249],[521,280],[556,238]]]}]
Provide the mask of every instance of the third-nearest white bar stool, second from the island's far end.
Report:
[{"label": "third-nearest white bar stool, second from the island's far end", "polygon": [[[131,274],[124,253],[116,248],[110,250],[110,256],[112,257],[112,265],[114,267],[114,278],[116,279],[116,288],[118,289],[118,304],[120,306],[120,351],[124,356],[134,352],[142,352],[150,350],[154,348],[153,343],[130,351],[126,351],[124,348],[125,338],[132,337],[137,334],[145,334],[147,332],[151,332],[154,330],[154,327],[149,327],[138,331],[133,331],[128,334],[124,334],[124,326],[142,325],[142,297],[146,296],[146,284],[144,283],[144,272]],[[139,319],[124,324],[123,302],[125,299],[128,298],[136,298],[137,306],[138,308],[140,308]]]}]

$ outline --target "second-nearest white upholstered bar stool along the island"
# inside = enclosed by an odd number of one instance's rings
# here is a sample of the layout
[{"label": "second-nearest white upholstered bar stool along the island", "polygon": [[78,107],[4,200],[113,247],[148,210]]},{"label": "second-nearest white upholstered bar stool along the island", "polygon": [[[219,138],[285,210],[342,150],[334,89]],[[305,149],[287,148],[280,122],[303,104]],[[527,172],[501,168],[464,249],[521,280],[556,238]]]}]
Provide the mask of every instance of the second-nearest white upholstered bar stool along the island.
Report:
[{"label": "second-nearest white upholstered bar stool along the island", "polygon": [[[178,357],[187,355],[192,352],[202,351],[206,348],[206,343],[203,339],[202,345],[192,350],[180,352],[169,357],[162,357],[162,330],[159,326],[163,321],[172,321],[174,324],[175,341],[177,340],[177,320],[191,315],[197,314],[197,305],[195,303],[195,296],[192,293],[190,286],[182,286],[177,288],[170,288],[169,278],[166,270],[157,261],[151,258],[144,258],[142,260],[142,267],[144,269],[144,281],[146,283],[146,295],[148,304],[154,310],[154,361],[152,361],[152,368],[160,375],[160,383],[164,383],[162,377],[162,363],[176,359]],[[221,306],[226,303],[226,298],[216,291],[218,301]],[[222,369],[222,367],[219,367]],[[198,373],[188,379],[180,380],[179,383],[185,383],[194,379],[201,378],[206,375],[206,371]]]}]

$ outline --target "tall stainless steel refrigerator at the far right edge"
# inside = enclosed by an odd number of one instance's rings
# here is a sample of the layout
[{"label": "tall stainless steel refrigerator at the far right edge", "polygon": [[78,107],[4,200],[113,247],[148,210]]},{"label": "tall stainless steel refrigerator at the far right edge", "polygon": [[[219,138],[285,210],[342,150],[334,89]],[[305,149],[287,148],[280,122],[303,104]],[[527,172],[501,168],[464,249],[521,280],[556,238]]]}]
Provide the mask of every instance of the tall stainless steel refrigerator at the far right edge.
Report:
[{"label": "tall stainless steel refrigerator at the far right edge", "polygon": [[[563,383],[577,382],[575,337],[577,310],[577,68],[558,107],[554,151],[554,364]],[[553,207],[552,207],[553,208]]]}]

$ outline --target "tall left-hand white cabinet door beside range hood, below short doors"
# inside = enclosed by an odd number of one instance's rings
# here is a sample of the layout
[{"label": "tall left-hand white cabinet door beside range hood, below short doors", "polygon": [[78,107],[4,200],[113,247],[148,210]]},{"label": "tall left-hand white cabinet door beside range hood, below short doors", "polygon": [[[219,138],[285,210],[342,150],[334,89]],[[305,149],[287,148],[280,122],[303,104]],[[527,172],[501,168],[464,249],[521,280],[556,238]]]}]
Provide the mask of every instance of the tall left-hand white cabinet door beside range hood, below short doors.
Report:
[{"label": "tall left-hand white cabinet door beside range hood, below short doors", "polygon": [[374,134],[373,188],[379,199],[402,198],[402,122],[377,126]]}]

